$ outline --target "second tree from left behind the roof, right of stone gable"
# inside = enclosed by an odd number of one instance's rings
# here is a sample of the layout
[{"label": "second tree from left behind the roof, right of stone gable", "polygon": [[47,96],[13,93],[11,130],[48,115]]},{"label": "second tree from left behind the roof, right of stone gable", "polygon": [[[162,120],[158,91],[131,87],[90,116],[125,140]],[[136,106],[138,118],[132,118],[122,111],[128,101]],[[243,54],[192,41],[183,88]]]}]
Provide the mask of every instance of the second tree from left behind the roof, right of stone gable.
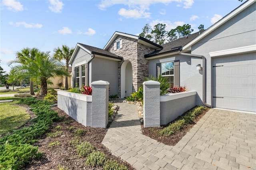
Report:
[{"label": "second tree from left behind the roof, right of stone gable", "polygon": [[154,26],[154,30],[151,31],[151,34],[153,35],[154,42],[162,45],[165,41],[166,36],[166,24],[156,24]]}]

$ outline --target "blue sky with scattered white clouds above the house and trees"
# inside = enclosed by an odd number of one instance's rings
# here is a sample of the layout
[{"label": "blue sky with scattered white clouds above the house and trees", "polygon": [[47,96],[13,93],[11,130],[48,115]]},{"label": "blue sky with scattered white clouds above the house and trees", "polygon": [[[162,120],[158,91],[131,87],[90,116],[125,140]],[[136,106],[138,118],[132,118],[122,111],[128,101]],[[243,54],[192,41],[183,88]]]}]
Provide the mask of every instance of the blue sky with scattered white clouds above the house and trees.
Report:
[{"label": "blue sky with scattered white clouds above the house and trees", "polygon": [[138,35],[146,24],[166,24],[167,31],[190,24],[197,32],[200,24],[209,28],[244,1],[1,0],[0,65],[8,73],[7,62],[24,47],[53,51],[79,42],[103,48],[115,31]]}]

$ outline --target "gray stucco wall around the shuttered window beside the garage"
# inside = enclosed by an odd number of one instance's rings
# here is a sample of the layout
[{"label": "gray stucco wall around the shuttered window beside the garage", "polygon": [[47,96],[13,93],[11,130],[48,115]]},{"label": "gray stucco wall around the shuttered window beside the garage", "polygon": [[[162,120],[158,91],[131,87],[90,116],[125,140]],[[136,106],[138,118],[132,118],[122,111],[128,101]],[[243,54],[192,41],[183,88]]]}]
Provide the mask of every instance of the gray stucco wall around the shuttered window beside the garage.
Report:
[{"label": "gray stucco wall around the shuttered window beside the garage", "polygon": [[[180,60],[180,86],[186,86],[188,91],[197,91],[196,105],[202,104],[202,70],[196,70],[196,65],[202,65],[202,59],[180,54],[150,59],[148,61],[149,74],[156,77],[156,63]],[[175,73],[174,73],[175,74]]]}]

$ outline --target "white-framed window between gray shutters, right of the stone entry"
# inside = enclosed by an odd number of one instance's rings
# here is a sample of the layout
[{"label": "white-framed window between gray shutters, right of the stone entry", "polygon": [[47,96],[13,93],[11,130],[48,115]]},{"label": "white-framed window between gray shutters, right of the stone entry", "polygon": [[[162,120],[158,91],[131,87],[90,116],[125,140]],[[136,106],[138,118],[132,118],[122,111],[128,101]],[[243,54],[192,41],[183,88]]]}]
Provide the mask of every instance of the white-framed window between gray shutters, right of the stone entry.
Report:
[{"label": "white-framed window between gray shutters, right of the stone entry", "polygon": [[167,77],[167,82],[174,86],[174,62],[161,63],[161,75]]}]

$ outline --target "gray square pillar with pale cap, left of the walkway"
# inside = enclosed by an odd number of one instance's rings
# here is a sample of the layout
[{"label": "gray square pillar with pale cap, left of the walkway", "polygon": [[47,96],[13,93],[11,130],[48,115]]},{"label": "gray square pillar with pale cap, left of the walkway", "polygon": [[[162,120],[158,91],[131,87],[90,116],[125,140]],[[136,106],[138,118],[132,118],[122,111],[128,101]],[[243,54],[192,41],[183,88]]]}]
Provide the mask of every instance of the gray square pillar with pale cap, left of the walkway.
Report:
[{"label": "gray square pillar with pale cap, left of the walkway", "polygon": [[107,81],[92,82],[92,127],[105,128],[108,125],[108,87]]}]

